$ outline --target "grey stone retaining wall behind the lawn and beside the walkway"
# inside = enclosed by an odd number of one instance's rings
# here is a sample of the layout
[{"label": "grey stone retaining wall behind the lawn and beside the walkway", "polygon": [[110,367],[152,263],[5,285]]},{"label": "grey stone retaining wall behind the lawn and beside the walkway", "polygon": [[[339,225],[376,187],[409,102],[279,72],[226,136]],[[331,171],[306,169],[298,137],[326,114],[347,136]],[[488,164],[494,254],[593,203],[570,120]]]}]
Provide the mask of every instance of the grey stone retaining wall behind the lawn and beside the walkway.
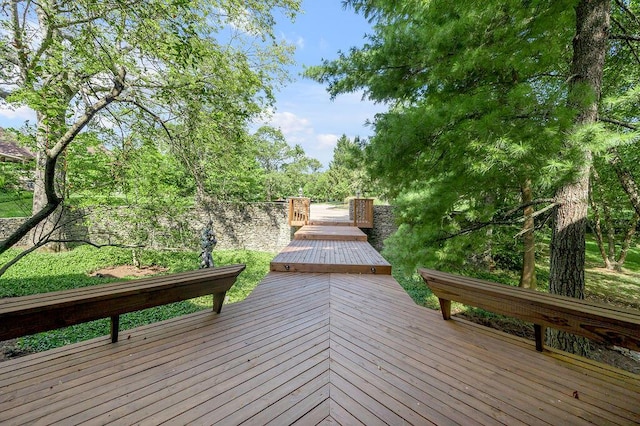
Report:
[{"label": "grey stone retaining wall behind the lawn and beside the walkway", "polygon": [[[135,221],[134,213],[126,208],[75,211],[76,219],[66,234],[67,238],[96,244],[200,250],[200,233],[211,218],[218,240],[216,249],[278,253],[289,244],[295,231],[287,222],[286,203],[221,203],[210,211],[211,216],[202,209],[192,209],[176,216],[147,218],[146,223]],[[0,239],[23,220],[0,219]],[[374,206],[374,226],[365,232],[371,245],[381,251],[384,239],[397,229],[391,206]]]}]

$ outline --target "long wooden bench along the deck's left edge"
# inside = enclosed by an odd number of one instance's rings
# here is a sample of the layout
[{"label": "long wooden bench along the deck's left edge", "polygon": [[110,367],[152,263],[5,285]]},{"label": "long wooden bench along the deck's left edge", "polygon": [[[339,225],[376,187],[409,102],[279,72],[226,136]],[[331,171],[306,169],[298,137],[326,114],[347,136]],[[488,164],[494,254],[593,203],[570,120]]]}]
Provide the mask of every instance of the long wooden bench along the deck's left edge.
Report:
[{"label": "long wooden bench along the deck's left edge", "polygon": [[0,299],[0,341],[109,317],[115,343],[121,314],[207,294],[213,295],[213,310],[220,313],[226,292],[244,268],[199,269]]}]

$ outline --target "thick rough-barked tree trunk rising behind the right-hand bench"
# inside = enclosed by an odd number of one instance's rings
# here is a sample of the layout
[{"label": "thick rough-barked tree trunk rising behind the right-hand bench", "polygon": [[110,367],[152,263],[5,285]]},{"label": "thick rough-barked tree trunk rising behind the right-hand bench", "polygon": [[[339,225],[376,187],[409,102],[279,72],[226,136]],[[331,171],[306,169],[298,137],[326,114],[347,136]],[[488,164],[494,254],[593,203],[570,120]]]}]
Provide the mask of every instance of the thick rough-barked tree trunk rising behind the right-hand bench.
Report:
[{"label": "thick rough-barked tree trunk rising behind the right-hand bench", "polygon": [[[598,103],[607,49],[610,0],[581,0],[576,7],[576,35],[569,87],[570,103],[577,109],[576,126],[598,120]],[[556,218],[551,238],[549,291],[584,298],[585,232],[592,155],[582,149],[577,177],[556,193]],[[548,343],[558,349],[585,355],[588,341],[549,329]]]}]

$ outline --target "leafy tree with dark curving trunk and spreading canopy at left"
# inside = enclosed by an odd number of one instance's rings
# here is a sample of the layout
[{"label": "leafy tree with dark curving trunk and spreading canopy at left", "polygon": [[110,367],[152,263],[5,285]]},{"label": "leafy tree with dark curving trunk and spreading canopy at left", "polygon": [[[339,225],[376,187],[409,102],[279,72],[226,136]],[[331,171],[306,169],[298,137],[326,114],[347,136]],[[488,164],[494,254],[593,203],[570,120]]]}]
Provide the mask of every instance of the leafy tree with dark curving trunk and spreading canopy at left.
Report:
[{"label": "leafy tree with dark curving trunk and spreading canopy at left", "polygon": [[[289,48],[272,32],[273,12],[293,17],[299,2],[16,0],[2,6],[0,99],[36,111],[37,167],[33,216],[0,243],[0,253],[60,211],[61,159],[90,124],[115,127],[123,139],[134,129],[156,138],[160,130],[175,142],[172,130],[193,127],[198,118],[221,127],[247,123],[268,105],[277,71],[288,61]],[[208,115],[193,114],[197,108]],[[49,223],[35,246],[53,232]]]}]

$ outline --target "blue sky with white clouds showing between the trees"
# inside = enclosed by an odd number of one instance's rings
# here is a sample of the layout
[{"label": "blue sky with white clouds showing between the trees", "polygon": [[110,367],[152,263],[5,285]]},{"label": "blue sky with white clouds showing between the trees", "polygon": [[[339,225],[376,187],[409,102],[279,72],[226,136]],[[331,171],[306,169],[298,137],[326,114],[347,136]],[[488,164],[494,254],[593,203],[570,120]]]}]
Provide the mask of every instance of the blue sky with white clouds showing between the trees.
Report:
[{"label": "blue sky with white clouds showing between the trees", "polygon": [[[302,8],[294,23],[282,19],[276,27],[279,37],[296,45],[296,65],[291,67],[293,81],[277,92],[269,124],[280,128],[290,145],[300,144],[308,156],[327,166],[337,139],[342,134],[371,136],[365,123],[384,108],[362,101],[361,93],[331,101],[323,85],[300,76],[305,65],[318,65],[322,59],[335,59],[339,50],[362,46],[363,36],[370,32],[365,18],[344,9],[342,0],[303,0]],[[27,108],[0,108],[0,127],[19,128],[25,120],[34,120]]]}]

